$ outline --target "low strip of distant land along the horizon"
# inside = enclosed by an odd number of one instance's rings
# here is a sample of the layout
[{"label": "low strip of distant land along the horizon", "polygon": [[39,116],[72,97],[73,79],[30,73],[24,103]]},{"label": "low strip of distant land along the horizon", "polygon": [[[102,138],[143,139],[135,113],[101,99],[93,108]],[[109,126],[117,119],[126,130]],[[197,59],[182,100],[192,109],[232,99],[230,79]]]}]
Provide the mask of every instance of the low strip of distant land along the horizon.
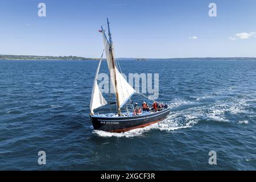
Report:
[{"label": "low strip of distant land along the horizon", "polygon": [[[99,58],[79,56],[30,56],[30,55],[0,55],[0,60],[100,60]],[[187,58],[134,58],[119,57],[117,60],[256,60],[256,57],[187,57]]]}]

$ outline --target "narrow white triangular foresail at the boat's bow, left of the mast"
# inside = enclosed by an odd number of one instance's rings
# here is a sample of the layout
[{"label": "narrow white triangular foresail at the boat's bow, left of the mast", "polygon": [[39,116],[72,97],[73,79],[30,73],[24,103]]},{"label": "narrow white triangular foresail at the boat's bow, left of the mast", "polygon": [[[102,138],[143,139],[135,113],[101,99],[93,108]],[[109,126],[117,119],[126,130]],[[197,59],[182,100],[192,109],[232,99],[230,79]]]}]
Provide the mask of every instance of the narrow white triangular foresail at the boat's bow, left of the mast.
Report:
[{"label": "narrow white triangular foresail at the boat's bow, left of the mast", "polygon": [[103,52],[101,55],[100,63],[98,63],[96,76],[94,78],[93,90],[92,90],[92,97],[90,98],[90,113],[93,115],[93,110],[97,109],[98,107],[104,106],[108,104],[105,98],[102,96],[100,89],[98,88],[97,78],[98,73],[100,72],[101,61],[102,61]]}]

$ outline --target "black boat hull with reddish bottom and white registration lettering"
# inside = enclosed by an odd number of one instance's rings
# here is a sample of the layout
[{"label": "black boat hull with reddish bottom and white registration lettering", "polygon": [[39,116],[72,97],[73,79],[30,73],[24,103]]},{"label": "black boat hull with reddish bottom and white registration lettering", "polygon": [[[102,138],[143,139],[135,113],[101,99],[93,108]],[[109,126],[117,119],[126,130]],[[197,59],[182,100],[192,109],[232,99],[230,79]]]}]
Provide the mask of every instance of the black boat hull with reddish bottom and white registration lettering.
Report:
[{"label": "black boat hull with reddish bottom and white registration lettering", "polygon": [[103,130],[115,133],[121,133],[139,127],[152,125],[163,120],[170,114],[170,108],[158,111],[156,113],[133,116],[133,117],[100,117],[90,115],[94,130]]}]

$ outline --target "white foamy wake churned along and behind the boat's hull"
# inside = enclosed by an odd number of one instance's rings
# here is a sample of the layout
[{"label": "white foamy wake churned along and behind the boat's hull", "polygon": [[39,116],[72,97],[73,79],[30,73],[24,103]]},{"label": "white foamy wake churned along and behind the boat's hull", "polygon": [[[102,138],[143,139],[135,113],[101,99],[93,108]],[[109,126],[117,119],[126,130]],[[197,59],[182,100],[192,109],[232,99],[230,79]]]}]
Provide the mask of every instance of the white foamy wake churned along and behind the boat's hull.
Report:
[{"label": "white foamy wake churned along and behind the boat's hull", "polygon": [[[173,131],[185,129],[196,125],[200,121],[213,121],[213,122],[234,122],[238,124],[247,124],[248,121],[231,121],[229,116],[239,116],[240,114],[248,114],[251,111],[246,109],[250,106],[248,103],[252,102],[251,98],[225,98],[224,100],[216,100],[209,104],[201,104],[201,101],[196,100],[185,101],[175,100],[169,106],[171,113],[166,119],[153,125],[134,129],[125,133],[109,133],[106,131],[94,130],[93,133],[100,137],[137,137],[143,136],[150,130],[160,131]],[[254,116],[252,116],[254,117]]]}]

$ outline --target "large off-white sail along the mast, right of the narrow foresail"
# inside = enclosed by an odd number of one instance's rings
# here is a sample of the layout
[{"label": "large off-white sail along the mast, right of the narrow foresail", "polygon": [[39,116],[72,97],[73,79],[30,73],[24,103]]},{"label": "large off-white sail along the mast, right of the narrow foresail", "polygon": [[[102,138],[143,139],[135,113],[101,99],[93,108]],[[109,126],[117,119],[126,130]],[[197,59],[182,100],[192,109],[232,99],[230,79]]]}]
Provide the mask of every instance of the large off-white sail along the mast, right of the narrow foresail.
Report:
[{"label": "large off-white sail along the mast, right of the narrow foresail", "polygon": [[118,104],[118,113],[121,111],[121,107],[129,100],[129,98],[135,93],[133,87],[125,80],[122,74],[118,71],[113,52],[113,43],[110,34],[109,21],[109,40],[106,37],[104,29],[101,27],[101,32],[103,36],[103,43],[105,45],[106,60],[108,62],[109,72],[110,72],[110,82],[112,82],[115,96]]}]

